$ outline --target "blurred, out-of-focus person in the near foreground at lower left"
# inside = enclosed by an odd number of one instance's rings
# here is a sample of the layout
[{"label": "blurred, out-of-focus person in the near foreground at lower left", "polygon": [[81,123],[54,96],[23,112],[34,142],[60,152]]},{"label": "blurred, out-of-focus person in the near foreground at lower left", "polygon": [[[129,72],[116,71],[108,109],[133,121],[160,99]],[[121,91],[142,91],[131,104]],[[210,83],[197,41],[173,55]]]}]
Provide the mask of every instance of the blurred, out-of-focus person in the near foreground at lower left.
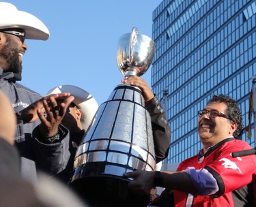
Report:
[{"label": "blurred, out-of-focus person in the near foreground at lower left", "polygon": [[40,174],[35,185],[20,176],[20,157],[14,146],[16,116],[2,90],[0,117],[0,206],[86,207],[72,191],[46,174]]}]

